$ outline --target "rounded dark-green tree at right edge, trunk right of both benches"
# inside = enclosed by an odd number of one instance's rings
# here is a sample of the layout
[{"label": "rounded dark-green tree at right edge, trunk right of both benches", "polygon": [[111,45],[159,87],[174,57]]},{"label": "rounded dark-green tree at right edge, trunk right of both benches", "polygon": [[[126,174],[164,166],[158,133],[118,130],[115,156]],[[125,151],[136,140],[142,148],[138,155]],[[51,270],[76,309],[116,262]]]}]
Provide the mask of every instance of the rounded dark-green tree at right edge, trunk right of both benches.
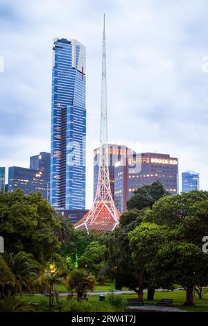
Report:
[{"label": "rounded dark-green tree at right edge, trunk right of both benches", "polygon": [[184,286],[185,305],[193,305],[193,288],[208,282],[208,256],[193,243],[171,241],[162,246],[155,259],[155,269],[166,279]]}]

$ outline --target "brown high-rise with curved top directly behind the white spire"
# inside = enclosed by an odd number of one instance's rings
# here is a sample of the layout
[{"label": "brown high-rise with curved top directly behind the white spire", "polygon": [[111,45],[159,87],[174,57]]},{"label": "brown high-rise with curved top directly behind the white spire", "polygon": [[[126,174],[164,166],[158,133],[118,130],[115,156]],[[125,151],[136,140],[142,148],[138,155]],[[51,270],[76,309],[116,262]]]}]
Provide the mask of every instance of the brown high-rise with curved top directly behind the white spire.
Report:
[{"label": "brown high-rise with curved top directly behind the white spire", "polygon": [[[110,177],[110,189],[112,198],[114,199],[114,170],[115,164],[120,162],[123,157],[131,155],[133,152],[130,148],[123,145],[108,144],[108,170]],[[100,162],[100,148],[94,149],[94,198],[98,187],[99,175],[99,162]]]}]

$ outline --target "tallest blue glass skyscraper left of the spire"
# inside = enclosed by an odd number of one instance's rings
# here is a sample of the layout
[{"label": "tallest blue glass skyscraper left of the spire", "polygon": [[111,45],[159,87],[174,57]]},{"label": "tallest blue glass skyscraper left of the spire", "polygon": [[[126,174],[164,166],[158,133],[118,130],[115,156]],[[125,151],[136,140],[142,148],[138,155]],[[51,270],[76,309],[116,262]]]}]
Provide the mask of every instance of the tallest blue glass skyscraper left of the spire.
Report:
[{"label": "tallest blue glass skyscraper left of the spire", "polygon": [[85,209],[85,46],[53,42],[50,202]]}]

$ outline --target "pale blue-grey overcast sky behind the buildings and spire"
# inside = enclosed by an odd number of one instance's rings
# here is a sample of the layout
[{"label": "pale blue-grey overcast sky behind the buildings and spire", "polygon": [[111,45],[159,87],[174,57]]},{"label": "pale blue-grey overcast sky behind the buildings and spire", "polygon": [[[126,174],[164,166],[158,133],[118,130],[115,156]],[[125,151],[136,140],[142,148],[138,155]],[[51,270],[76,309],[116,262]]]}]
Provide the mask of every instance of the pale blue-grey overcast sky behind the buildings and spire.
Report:
[{"label": "pale blue-grey overcast sky behind the buildings and spire", "polygon": [[87,47],[92,204],[103,12],[109,142],[178,157],[180,179],[196,170],[208,189],[207,0],[0,0],[0,166],[28,167],[31,155],[50,151],[52,40],[75,38]]}]

